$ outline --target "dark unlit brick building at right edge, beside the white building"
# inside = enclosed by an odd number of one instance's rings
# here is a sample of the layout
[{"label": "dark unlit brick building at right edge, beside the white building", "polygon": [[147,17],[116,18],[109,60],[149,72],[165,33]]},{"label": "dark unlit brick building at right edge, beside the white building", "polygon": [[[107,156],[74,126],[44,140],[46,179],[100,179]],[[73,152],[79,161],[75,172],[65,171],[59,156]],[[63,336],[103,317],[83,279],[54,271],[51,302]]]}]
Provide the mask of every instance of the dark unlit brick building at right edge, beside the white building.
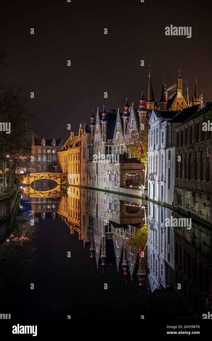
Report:
[{"label": "dark unlit brick building at right edge, beside the white building", "polygon": [[211,112],[209,103],[175,129],[174,205],[206,223],[212,222],[212,139],[202,123],[208,123]]}]

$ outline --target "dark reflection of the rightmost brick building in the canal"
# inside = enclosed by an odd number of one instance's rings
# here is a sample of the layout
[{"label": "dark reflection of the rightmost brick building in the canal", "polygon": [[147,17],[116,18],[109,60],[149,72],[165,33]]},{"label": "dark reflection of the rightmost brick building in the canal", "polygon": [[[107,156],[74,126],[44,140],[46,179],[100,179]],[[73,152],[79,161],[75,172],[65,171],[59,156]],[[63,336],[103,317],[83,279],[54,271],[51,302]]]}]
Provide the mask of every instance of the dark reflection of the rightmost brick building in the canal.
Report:
[{"label": "dark reflection of the rightmost brick building in the canal", "polygon": [[191,229],[175,227],[175,291],[193,316],[202,318],[212,304],[212,232],[192,222]]}]

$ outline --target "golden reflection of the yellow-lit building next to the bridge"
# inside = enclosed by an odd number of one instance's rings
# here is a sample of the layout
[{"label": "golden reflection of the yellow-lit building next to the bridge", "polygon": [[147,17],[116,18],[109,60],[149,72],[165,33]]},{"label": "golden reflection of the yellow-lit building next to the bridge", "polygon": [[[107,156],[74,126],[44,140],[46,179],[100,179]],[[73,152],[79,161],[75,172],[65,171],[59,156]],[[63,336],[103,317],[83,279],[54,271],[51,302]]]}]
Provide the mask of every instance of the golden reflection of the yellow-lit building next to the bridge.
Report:
[{"label": "golden reflection of the yellow-lit building next to the bridge", "polygon": [[74,233],[76,230],[81,239],[79,188],[69,187],[69,193],[58,198],[58,213],[70,228],[70,232]]}]

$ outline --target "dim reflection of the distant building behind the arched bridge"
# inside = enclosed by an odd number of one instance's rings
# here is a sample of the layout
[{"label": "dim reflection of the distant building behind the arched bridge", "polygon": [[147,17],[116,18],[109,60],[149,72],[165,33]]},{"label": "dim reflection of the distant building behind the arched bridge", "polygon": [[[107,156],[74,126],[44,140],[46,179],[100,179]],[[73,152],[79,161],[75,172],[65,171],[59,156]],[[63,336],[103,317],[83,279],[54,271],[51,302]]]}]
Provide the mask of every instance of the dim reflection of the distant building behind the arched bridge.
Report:
[{"label": "dim reflection of the distant building behind the arched bridge", "polygon": [[51,213],[53,219],[57,213],[57,200],[55,198],[29,198],[31,202],[32,211],[41,213],[43,219],[46,218],[47,213]]}]

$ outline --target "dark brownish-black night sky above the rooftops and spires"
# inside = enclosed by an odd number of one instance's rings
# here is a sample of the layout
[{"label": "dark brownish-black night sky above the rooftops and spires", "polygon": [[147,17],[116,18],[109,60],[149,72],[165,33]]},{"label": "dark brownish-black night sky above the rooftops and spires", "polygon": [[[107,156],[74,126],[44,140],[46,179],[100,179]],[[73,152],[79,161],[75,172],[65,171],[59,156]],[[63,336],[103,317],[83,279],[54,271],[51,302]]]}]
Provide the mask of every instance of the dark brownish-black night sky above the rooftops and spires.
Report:
[{"label": "dark brownish-black night sky above the rooftops and spires", "polygon": [[[5,1],[1,5],[1,42],[12,65],[0,69],[5,84],[19,83],[34,91],[35,132],[59,138],[89,122],[94,106],[120,107],[126,94],[139,104],[142,85],[147,98],[150,64],[154,97],[160,100],[162,79],[176,88],[178,69],[189,95],[204,104],[211,94],[211,3],[144,0]],[[210,7],[209,7],[210,6]],[[166,26],[191,26],[192,38],[165,36]],[[34,28],[35,34],[30,34]],[[104,34],[104,28],[108,34]],[[67,66],[67,60],[71,66]],[[145,66],[140,66],[144,60]]]}]

